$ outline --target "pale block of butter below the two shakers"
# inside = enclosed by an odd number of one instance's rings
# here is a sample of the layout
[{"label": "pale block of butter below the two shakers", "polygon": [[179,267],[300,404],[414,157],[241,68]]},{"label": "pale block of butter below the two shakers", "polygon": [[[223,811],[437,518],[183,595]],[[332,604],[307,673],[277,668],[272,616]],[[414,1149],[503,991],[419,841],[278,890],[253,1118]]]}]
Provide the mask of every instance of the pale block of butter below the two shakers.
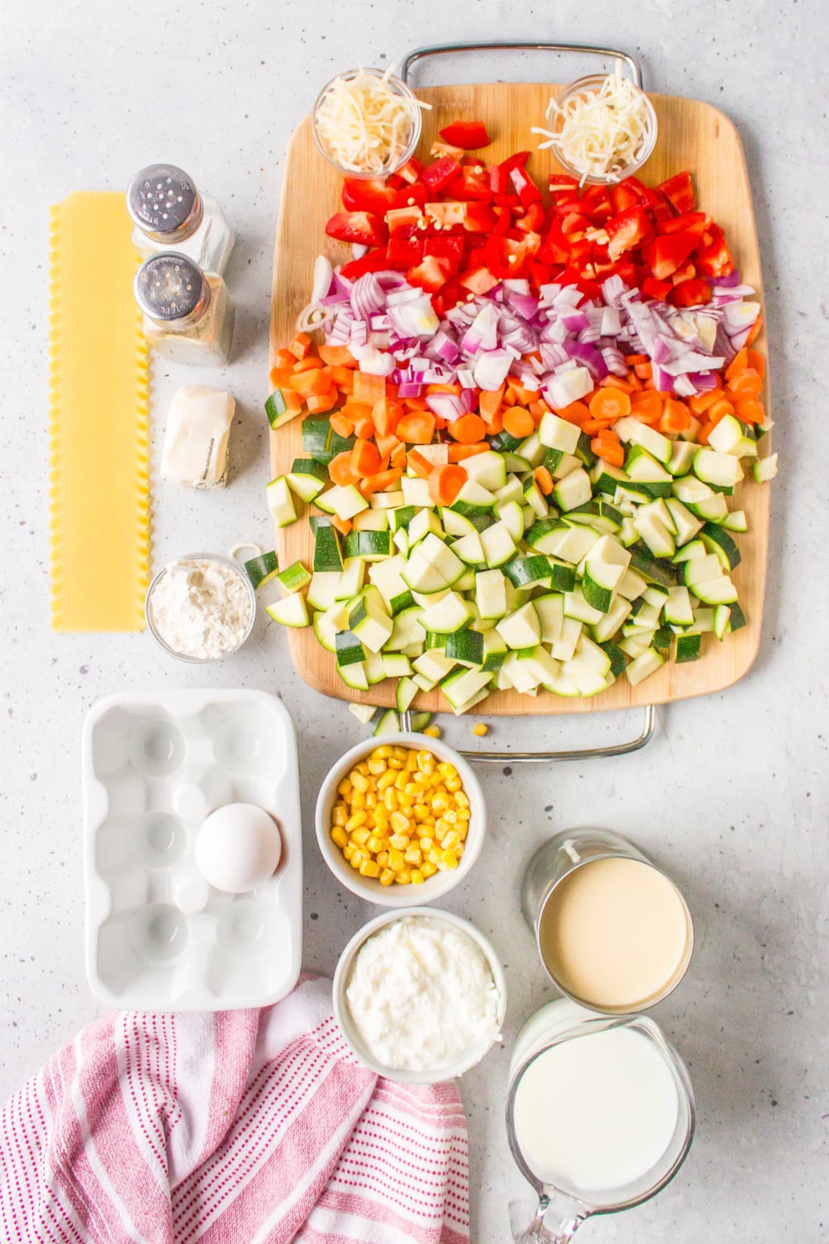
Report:
[{"label": "pale block of butter below the two shakers", "polygon": [[167,417],[162,479],[188,488],[224,488],[235,411],[235,399],[221,389],[204,384],[180,388]]}]

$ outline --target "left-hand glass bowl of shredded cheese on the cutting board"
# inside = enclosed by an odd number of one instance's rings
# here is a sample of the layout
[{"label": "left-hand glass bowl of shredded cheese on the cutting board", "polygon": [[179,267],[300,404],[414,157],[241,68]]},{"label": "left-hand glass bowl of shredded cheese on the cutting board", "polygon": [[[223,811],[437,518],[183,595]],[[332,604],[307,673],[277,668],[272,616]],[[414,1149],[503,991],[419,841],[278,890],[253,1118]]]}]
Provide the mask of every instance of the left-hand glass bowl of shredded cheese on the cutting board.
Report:
[{"label": "left-hand glass bowl of shredded cheese on the cutting board", "polygon": [[414,154],[423,103],[388,70],[347,70],[313,106],[313,141],[346,177],[388,177]]}]

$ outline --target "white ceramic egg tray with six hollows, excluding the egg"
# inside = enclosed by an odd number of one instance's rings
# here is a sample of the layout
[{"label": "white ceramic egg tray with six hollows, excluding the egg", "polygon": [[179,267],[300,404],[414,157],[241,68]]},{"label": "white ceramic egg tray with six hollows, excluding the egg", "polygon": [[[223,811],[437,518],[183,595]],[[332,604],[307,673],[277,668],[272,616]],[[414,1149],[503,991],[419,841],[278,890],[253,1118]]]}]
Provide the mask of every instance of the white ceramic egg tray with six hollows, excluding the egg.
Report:
[{"label": "white ceramic egg tray with six hollows, excluding the egg", "polygon": [[[273,876],[222,893],[195,863],[199,826],[257,804],[280,827]],[[265,1006],[302,954],[302,822],[293,723],[254,690],[112,695],[83,728],[86,967],[137,1010]]]}]

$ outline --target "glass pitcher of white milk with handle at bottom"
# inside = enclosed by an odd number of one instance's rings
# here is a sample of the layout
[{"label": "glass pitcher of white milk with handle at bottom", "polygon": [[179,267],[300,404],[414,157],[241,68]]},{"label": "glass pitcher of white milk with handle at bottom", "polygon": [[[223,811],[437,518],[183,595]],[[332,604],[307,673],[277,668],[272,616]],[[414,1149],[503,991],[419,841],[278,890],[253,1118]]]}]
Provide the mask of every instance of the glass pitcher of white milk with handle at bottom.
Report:
[{"label": "glass pitcher of white milk with handle at bottom", "polygon": [[510,1066],[507,1136],[537,1204],[512,1202],[518,1244],[566,1244],[585,1218],[629,1209],[679,1171],[694,1137],[687,1071],[643,1015],[542,1006]]}]

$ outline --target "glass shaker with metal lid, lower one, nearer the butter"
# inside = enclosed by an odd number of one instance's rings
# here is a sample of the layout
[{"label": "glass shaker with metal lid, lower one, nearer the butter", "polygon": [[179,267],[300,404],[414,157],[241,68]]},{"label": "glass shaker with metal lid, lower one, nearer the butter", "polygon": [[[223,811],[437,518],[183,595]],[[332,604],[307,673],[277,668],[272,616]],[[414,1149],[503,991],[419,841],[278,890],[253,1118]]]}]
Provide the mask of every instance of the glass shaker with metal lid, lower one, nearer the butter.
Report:
[{"label": "glass shaker with metal lid, lower one, nearer the butter", "polygon": [[236,309],[220,276],[175,251],[145,259],[135,299],[150,346],[176,363],[220,367],[230,358]]}]

